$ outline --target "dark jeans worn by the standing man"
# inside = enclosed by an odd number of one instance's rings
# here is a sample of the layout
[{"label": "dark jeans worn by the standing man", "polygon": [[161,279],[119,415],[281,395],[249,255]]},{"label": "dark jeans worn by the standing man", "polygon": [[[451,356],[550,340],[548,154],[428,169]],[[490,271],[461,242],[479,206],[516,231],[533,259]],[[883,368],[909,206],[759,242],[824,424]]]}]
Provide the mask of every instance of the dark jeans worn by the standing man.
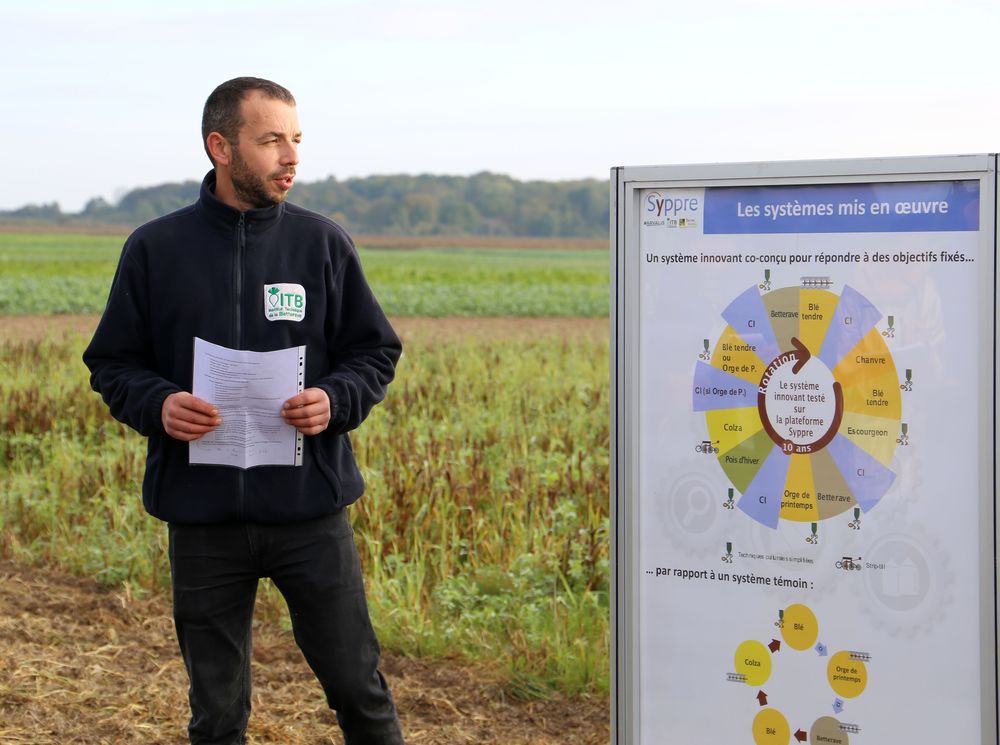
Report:
[{"label": "dark jeans worn by the standing man", "polygon": [[293,525],[170,525],[174,623],[191,687],[192,745],[242,745],[250,717],[257,582],[288,603],[295,641],[347,745],[402,745],[378,671],[354,531],[345,510]]}]

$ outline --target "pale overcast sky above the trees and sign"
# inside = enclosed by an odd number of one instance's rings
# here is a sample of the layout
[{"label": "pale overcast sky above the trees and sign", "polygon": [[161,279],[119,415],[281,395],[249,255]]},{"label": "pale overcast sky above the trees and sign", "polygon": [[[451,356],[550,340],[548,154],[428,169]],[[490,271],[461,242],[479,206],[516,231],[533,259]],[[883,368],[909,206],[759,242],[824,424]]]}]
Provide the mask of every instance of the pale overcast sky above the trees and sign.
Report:
[{"label": "pale overcast sky above the trees and sign", "polygon": [[200,179],[239,75],[295,94],[304,181],[1000,150],[997,0],[32,0],[0,28],[0,209]]}]

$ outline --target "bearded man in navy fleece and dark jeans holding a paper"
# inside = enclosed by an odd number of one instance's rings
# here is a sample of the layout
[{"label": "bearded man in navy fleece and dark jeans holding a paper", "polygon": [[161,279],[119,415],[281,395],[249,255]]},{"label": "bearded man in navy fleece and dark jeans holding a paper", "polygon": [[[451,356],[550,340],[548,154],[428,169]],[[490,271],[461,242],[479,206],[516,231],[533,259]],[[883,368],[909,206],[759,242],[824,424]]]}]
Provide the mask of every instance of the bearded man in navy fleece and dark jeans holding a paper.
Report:
[{"label": "bearded man in navy fleece and dark jeans holding a paper", "polygon": [[[245,742],[254,598],[270,577],[348,745],[396,745],[346,508],[364,488],[347,432],[384,397],[399,339],[347,233],[285,202],[301,140],[291,93],[223,83],[202,138],[213,170],[200,198],[129,237],[84,352],[112,415],[149,438],[143,504],[169,526],[191,743]],[[274,288],[302,298],[290,317],[267,312]],[[304,390],[281,411],[304,435],[301,466],[189,463],[189,443],[221,424],[190,393],[195,337],[259,352],[305,345]]]}]

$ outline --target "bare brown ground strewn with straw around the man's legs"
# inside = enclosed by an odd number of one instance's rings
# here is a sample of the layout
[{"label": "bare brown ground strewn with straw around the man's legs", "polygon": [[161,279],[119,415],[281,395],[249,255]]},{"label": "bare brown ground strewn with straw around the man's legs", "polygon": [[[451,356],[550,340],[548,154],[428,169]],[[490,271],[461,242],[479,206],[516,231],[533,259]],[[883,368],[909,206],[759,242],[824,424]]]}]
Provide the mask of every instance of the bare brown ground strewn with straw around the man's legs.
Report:
[{"label": "bare brown ground strewn with straw around the man's legs", "polygon": [[[166,599],[0,562],[0,742],[181,745],[184,668]],[[606,743],[604,699],[518,701],[487,671],[383,657],[411,745]],[[342,743],[288,632],[254,633],[256,745]]]}]

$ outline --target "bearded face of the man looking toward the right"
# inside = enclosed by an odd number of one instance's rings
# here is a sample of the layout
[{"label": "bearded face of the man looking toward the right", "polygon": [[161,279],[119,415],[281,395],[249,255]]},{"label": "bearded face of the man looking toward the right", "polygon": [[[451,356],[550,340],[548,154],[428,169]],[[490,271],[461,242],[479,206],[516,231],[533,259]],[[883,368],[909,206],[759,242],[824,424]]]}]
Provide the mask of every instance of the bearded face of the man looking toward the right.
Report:
[{"label": "bearded face of the man looking toward the right", "polygon": [[253,91],[242,104],[243,126],[232,146],[229,175],[246,209],[283,201],[295,179],[302,140],[294,106]]}]

